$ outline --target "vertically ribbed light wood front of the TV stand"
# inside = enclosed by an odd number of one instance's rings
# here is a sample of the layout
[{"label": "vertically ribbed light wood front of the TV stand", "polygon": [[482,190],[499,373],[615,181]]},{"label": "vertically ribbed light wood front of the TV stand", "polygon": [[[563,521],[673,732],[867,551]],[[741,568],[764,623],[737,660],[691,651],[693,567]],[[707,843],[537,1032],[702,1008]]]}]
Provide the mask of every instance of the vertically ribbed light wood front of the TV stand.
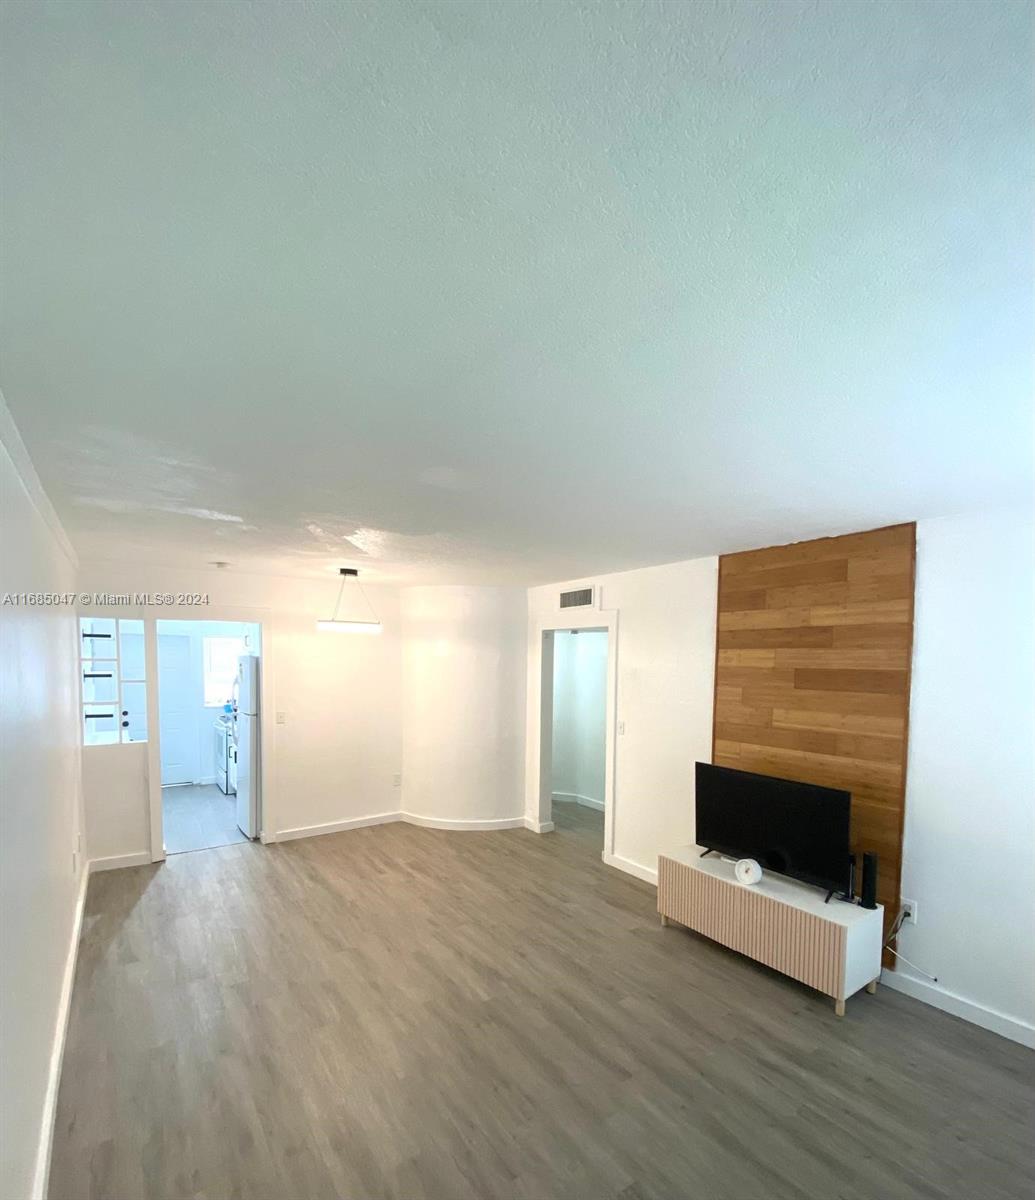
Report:
[{"label": "vertically ribbed light wood front of the TV stand", "polygon": [[845,929],[664,856],[658,911],[720,946],[844,998]]}]

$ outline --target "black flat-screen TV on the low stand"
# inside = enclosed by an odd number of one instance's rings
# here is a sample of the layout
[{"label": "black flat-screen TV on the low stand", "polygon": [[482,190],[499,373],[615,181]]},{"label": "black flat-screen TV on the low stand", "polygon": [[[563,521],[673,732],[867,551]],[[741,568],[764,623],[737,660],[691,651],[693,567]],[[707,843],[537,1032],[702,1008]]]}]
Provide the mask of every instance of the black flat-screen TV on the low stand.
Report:
[{"label": "black flat-screen TV on the low stand", "polygon": [[730,767],[696,767],[698,845],[848,892],[851,793]]}]

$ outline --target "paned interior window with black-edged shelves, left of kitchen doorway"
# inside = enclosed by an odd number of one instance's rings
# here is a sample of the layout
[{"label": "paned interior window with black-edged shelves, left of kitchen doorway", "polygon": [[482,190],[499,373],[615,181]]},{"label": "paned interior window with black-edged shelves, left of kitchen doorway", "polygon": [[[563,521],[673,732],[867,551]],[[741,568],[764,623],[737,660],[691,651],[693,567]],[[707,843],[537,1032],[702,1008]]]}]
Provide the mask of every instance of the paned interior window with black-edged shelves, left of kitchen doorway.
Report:
[{"label": "paned interior window with black-edged shelves, left of kitchen doorway", "polygon": [[83,745],[148,740],[144,623],[79,618]]}]

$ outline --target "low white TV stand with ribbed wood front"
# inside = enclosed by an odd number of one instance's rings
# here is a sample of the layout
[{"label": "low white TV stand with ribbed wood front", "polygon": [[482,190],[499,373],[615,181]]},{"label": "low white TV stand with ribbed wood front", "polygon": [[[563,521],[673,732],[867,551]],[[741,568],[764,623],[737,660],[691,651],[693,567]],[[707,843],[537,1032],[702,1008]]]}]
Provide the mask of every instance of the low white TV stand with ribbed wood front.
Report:
[{"label": "low white TV stand with ribbed wood front", "polygon": [[884,908],[861,908],[768,871],[759,883],[737,883],[731,862],[700,846],[658,858],[662,924],[678,922],[731,950],[844,1002],[862,988],[877,991]]}]

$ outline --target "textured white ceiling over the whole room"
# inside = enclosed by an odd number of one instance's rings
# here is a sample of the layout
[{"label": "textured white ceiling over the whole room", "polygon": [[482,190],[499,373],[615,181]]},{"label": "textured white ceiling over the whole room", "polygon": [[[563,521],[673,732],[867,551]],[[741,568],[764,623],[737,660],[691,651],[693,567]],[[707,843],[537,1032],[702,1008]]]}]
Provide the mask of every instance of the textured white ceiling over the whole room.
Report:
[{"label": "textured white ceiling over the whole room", "polygon": [[1027,2],[6,2],[80,554],[538,582],[1027,494]]}]

